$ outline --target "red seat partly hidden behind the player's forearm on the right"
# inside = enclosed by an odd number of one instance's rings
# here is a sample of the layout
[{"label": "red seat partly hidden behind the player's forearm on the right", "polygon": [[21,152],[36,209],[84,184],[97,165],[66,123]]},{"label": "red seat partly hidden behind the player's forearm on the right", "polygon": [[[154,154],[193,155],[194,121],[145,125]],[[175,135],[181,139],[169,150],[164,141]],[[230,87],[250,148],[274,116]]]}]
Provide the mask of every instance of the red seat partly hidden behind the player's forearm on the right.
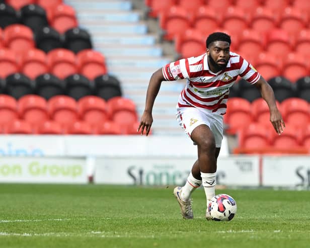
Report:
[{"label": "red seat partly hidden behind the player's forearm on the right", "polygon": [[[258,123],[261,123],[265,127],[273,127],[270,122],[270,111],[266,101],[263,98],[258,98],[252,102],[252,110],[254,120]],[[282,113],[281,105],[276,101],[278,110]]]}]

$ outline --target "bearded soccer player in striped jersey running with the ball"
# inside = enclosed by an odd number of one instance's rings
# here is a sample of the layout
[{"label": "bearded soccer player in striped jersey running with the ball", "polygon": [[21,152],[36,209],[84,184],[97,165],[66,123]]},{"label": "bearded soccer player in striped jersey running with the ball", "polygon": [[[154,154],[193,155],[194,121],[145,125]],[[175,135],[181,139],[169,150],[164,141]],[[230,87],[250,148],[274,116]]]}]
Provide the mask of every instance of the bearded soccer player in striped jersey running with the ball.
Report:
[{"label": "bearded soccer player in striped jersey running with the ball", "polygon": [[[207,206],[215,196],[216,161],[223,137],[223,115],[226,112],[229,88],[238,76],[260,90],[268,104],[270,121],[275,131],[280,135],[285,128],[272,88],[247,60],[229,51],[230,43],[229,35],[212,33],[206,39],[206,53],[169,63],[155,71],[149,80],[145,109],[137,130],[141,135],[144,130],[146,135],[149,133],[153,122],[152,108],[162,81],[187,79],[177,104],[177,120],[197,145],[198,159],[186,184],[174,189],[185,219],[193,218],[191,194],[200,185],[204,188]],[[210,219],[208,209],[206,218]]]}]

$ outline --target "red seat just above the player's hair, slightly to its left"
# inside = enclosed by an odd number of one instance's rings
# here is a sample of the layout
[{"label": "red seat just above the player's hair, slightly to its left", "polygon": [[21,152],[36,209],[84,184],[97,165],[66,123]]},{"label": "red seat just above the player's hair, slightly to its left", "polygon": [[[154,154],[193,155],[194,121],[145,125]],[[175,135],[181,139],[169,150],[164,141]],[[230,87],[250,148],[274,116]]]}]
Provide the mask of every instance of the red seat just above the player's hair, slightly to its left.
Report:
[{"label": "red seat just above the player's hair, slightly to its left", "polygon": [[220,15],[208,6],[201,6],[194,14],[194,28],[202,33],[217,29],[220,22]]}]

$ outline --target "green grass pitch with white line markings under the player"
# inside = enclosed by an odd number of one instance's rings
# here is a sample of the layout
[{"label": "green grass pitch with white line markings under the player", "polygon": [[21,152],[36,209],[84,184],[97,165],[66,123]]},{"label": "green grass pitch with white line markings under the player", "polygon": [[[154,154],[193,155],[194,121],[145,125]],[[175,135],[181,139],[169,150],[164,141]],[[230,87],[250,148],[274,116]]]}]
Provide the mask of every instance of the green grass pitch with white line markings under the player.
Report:
[{"label": "green grass pitch with white line markings under the player", "polygon": [[310,247],[308,191],[217,190],[235,198],[230,222],[193,220],[173,187],[0,185],[0,247]]}]

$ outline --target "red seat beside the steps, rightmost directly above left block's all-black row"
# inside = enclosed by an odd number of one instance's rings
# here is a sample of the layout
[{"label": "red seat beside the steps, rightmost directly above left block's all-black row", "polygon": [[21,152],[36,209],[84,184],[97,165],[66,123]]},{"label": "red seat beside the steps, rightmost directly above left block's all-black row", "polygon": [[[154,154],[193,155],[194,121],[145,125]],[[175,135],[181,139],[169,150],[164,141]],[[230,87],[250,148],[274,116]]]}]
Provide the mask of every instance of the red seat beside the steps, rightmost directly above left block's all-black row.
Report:
[{"label": "red seat beside the steps, rightmost directly above left block's all-black row", "polygon": [[107,73],[105,57],[100,52],[86,49],[77,53],[76,59],[79,72],[90,80]]}]

